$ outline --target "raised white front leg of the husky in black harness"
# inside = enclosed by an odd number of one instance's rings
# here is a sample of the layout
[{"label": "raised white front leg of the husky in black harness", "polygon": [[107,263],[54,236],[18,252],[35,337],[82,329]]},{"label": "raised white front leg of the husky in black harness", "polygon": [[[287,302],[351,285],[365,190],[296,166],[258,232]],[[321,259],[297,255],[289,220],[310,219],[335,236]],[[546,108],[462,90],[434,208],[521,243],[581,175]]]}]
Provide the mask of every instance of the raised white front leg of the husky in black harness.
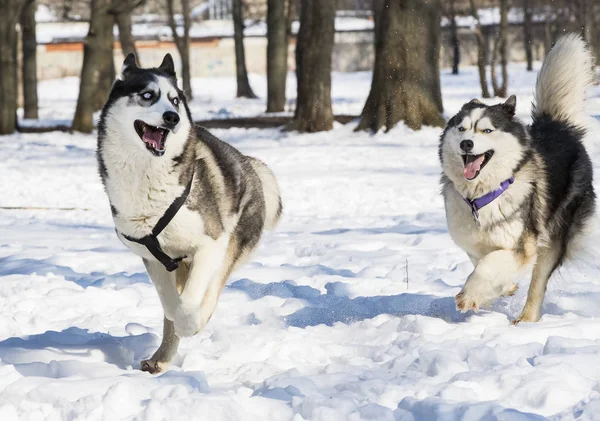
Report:
[{"label": "raised white front leg of the husky in black harness", "polygon": [[208,322],[200,309],[211,284],[220,283],[227,250],[225,240],[218,239],[202,246],[192,257],[189,276],[179,296],[173,319],[175,333],[180,338],[195,335]]}]

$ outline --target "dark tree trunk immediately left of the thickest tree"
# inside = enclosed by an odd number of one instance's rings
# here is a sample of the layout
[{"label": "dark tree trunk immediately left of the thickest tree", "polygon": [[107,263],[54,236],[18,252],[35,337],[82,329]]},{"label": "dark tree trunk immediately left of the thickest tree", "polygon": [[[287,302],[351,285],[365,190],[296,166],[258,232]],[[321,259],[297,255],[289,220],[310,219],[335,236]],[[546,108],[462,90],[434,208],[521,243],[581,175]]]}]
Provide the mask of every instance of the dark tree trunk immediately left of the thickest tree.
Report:
[{"label": "dark tree trunk immediately left of the thickest tree", "polygon": [[335,0],[304,0],[296,44],[296,112],[288,126],[300,132],[333,128],[331,55],[335,35]]}]

